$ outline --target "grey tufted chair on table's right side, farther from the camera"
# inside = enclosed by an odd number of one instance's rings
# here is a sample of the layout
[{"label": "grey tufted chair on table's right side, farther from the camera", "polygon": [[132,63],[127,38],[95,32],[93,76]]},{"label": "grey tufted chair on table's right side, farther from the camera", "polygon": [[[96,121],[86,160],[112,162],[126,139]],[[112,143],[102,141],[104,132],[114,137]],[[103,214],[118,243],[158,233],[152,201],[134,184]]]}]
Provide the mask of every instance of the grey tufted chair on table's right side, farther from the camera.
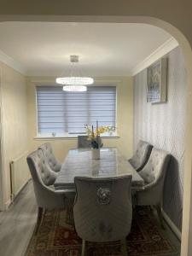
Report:
[{"label": "grey tufted chair on table's right side, farther from the camera", "polygon": [[143,169],[143,166],[148,161],[148,158],[151,154],[153,146],[147,142],[144,142],[142,140],[139,141],[137,144],[137,150],[136,153],[132,156],[132,158],[129,160],[131,163],[131,166],[139,172]]}]

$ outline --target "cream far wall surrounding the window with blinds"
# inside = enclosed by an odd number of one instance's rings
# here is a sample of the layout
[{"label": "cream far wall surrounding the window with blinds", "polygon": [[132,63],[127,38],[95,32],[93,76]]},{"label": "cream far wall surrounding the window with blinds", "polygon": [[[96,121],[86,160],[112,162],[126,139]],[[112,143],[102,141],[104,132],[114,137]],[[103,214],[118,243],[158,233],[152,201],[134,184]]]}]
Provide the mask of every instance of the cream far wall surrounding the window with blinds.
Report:
[{"label": "cream far wall surrounding the window with blinds", "polygon": [[[95,79],[98,82],[98,78]],[[117,83],[117,126],[119,138],[103,139],[105,147],[117,147],[128,158],[132,154],[132,79],[131,78],[99,78],[101,83],[109,81]],[[37,109],[36,109],[36,84],[53,84],[53,78],[30,78],[27,83],[28,102],[28,127],[30,150],[35,150],[38,145],[50,142],[59,160],[64,160],[70,148],[77,147],[77,138],[51,138],[38,139],[37,137]]]}]

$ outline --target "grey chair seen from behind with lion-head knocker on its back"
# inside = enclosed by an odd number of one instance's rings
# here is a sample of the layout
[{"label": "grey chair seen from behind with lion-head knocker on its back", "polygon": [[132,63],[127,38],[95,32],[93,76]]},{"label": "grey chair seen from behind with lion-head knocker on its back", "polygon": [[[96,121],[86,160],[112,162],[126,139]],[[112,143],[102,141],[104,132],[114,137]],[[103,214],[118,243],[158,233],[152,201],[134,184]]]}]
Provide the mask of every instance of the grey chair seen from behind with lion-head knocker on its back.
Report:
[{"label": "grey chair seen from behind with lion-head knocker on its back", "polygon": [[121,241],[131,230],[131,176],[75,177],[76,201],[73,207],[76,231],[85,241]]}]

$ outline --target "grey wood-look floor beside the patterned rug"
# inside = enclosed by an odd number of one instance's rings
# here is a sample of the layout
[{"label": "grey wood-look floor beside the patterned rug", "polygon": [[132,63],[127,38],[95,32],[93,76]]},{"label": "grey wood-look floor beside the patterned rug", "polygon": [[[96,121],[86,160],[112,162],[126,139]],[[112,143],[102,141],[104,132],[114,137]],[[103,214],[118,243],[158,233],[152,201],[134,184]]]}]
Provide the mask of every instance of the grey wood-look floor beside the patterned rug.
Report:
[{"label": "grey wood-look floor beside the patterned rug", "polygon": [[[32,237],[37,218],[38,207],[32,187],[32,181],[20,192],[15,203],[7,212],[0,212],[0,255],[24,256]],[[167,236],[172,236],[176,246],[180,246],[177,237],[166,227]]]}]

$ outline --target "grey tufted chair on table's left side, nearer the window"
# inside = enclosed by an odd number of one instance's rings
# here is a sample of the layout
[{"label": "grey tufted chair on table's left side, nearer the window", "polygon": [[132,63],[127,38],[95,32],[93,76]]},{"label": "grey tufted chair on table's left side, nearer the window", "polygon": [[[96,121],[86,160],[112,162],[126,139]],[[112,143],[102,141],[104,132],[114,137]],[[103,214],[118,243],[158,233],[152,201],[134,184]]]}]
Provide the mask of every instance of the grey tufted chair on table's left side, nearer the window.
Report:
[{"label": "grey tufted chair on table's left side, nearer the window", "polygon": [[44,152],[44,156],[51,168],[54,172],[60,172],[61,163],[55,159],[55,155],[53,154],[53,149],[50,143],[44,143],[38,149],[41,149]]}]

